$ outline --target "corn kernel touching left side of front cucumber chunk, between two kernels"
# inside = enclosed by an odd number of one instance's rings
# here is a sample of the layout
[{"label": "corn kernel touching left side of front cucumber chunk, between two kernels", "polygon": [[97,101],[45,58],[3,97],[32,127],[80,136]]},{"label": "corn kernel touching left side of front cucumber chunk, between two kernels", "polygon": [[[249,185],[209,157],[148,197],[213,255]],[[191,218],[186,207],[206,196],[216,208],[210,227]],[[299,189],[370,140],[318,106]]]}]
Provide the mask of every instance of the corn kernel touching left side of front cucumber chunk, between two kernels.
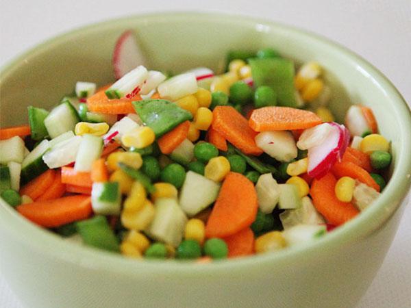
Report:
[{"label": "corn kernel touching left side of front cucumber chunk, between two kernels", "polygon": [[132,230],[144,230],[146,229],[151,220],[153,220],[155,209],[153,203],[146,200],[145,204],[138,211],[123,210],[121,212],[121,223],[127,229]]}]

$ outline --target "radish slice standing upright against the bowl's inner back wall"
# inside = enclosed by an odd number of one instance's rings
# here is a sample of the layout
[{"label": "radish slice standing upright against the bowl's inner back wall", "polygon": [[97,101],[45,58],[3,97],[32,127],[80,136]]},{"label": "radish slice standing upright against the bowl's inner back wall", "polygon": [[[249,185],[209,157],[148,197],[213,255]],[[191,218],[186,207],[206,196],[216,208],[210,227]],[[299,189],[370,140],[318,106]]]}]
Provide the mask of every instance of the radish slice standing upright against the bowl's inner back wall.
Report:
[{"label": "radish slice standing upright against the bowl's inner back wall", "polygon": [[138,65],[147,66],[147,60],[132,30],[125,31],[117,40],[112,61],[116,79],[120,79]]}]

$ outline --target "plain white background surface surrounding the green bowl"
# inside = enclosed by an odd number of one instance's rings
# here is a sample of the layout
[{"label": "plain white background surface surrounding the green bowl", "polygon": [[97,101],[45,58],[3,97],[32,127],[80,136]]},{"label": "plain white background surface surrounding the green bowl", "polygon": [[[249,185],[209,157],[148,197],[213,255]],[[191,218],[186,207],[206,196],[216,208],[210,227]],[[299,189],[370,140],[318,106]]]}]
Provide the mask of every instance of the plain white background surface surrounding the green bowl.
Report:
[{"label": "plain white background surface surrounding the green bowl", "polygon": [[[377,66],[411,102],[411,0],[0,0],[0,65],[74,27],[142,12],[206,10],[247,14],[314,31]],[[223,31],[224,29],[221,29]],[[410,307],[411,208],[359,307]],[[0,273],[0,307],[21,307]]]}]

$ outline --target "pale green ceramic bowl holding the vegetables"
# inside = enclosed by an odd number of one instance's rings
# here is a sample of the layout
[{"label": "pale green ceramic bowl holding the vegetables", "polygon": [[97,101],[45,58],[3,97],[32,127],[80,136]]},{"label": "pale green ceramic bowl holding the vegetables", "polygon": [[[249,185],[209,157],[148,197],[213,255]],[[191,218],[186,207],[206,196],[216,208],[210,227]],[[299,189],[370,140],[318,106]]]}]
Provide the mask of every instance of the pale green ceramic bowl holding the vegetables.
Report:
[{"label": "pale green ceramic bowl holding the vegetables", "polygon": [[[26,307],[352,307],[373,280],[410,187],[410,111],[395,87],[358,55],[329,40],[242,16],[168,13],[77,29],[28,51],[1,72],[1,126],[27,123],[27,105],[51,107],[75,81],[112,81],[116,38],[135,29],[152,67],[221,67],[229,49],[274,47],[325,68],[332,110],[373,108],[392,140],[392,178],[358,218],[308,247],[197,265],[135,261],[77,246],[0,204],[0,270]],[[388,286],[389,287],[389,286]]]}]

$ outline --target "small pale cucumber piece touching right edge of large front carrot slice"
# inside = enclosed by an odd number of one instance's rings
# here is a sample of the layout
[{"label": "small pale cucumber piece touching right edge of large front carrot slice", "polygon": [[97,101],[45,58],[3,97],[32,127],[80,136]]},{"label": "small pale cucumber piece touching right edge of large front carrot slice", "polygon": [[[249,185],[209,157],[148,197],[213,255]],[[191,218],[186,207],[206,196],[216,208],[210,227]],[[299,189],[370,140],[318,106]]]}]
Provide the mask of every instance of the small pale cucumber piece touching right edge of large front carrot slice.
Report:
[{"label": "small pale cucumber piece touching right edge of large front carrot slice", "polygon": [[280,188],[271,173],[260,175],[256,184],[258,207],[264,214],[270,214],[279,201]]}]

